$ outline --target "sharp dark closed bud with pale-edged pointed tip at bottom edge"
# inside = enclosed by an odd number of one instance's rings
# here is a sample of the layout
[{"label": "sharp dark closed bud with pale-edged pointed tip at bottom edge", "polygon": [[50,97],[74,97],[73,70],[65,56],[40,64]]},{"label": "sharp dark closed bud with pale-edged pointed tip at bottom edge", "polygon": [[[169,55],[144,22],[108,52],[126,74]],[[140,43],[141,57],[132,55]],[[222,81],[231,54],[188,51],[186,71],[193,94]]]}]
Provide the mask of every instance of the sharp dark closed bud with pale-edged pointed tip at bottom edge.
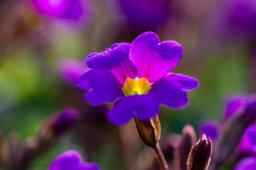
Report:
[{"label": "sharp dark closed bud with pale-edged pointed tip at bottom edge", "polygon": [[202,134],[199,141],[192,146],[187,161],[187,170],[208,170],[211,161],[212,141]]}]

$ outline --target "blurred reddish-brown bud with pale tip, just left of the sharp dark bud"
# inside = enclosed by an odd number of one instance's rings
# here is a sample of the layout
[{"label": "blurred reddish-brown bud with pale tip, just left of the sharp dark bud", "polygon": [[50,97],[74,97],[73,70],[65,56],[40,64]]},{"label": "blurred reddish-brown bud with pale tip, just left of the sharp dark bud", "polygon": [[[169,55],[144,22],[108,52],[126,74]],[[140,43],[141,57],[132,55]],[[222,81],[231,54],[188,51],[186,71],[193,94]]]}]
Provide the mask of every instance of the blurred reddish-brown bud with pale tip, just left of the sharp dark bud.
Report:
[{"label": "blurred reddish-brown bud with pale tip, just left of the sharp dark bud", "polygon": [[186,170],[186,163],[193,144],[196,143],[196,134],[193,126],[187,124],[183,127],[182,138],[175,148],[175,167],[177,170]]}]

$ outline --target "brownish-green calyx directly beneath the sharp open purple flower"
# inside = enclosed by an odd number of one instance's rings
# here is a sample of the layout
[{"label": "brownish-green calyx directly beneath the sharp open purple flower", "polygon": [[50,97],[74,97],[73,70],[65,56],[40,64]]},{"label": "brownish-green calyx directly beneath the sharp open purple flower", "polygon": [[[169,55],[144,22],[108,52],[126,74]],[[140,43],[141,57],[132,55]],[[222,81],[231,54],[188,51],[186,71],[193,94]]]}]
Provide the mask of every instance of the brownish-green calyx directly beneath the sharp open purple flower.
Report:
[{"label": "brownish-green calyx directly beneath the sharp open purple flower", "polygon": [[137,117],[135,117],[134,120],[140,139],[147,146],[155,148],[161,135],[161,127],[158,116],[156,115],[156,117],[146,121],[139,120]]}]

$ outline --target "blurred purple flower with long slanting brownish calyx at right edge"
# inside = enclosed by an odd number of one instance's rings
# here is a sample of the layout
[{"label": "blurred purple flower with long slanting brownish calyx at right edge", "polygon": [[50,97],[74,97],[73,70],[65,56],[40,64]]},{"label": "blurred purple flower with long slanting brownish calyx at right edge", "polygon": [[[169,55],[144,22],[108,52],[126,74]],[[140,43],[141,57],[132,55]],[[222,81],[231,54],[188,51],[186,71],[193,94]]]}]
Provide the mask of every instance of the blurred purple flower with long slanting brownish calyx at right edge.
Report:
[{"label": "blurred purple flower with long slanting brownish calyx at right edge", "polygon": [[222,129],[212,156],[212,166],[222,165],[234,152],[248,126],[256,119],[256,94],[232,95],[227,101],[227,110]]}]

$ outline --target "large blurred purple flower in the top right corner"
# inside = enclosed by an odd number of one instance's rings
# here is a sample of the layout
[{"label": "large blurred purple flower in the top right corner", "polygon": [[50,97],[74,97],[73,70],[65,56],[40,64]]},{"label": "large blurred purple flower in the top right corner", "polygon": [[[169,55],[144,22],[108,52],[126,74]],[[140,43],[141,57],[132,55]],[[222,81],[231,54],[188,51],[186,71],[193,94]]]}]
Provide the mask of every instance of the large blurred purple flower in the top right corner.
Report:
[{"label": "large blurred purple flower in the top right corner", "polygon": [[256,1],[220,0],[216,27],[229,38],[256,38]]}]

